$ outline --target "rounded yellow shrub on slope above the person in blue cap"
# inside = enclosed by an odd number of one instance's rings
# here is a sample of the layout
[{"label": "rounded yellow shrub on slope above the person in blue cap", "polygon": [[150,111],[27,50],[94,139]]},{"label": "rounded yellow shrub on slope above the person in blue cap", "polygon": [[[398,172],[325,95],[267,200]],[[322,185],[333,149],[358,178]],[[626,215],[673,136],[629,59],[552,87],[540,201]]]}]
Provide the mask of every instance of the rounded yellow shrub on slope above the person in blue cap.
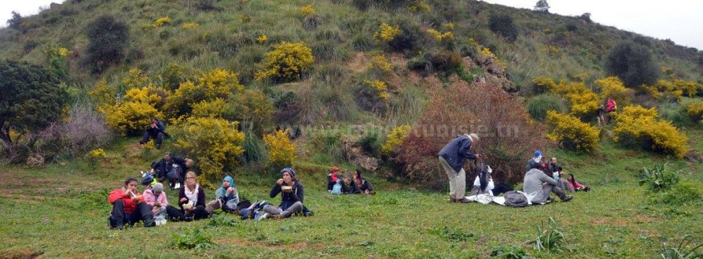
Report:
[{"label": "rounded yellow shrub on slope above the person in blue cap", "polygon": [[576,152],[593,152],[600,145],[600,131],[581,119],[555,111],[547,112],[547,124],[551,127],[547,138],[562,147]]}]

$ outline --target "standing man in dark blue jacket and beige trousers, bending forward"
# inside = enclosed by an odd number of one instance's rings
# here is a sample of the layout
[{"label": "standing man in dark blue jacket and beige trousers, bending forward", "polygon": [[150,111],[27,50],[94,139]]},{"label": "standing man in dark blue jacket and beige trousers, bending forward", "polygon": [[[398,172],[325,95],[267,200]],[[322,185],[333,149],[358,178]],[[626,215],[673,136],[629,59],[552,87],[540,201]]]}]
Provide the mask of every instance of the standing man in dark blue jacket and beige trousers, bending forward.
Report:
[{"label": "standing man in dark blue jacket and beige trousers, bending forward", "polygon": [[482,159],[480,154],[471,153],[471,145],[479,140],[476,133],[459,135],[444,146],[437,156],[439,164],[449,177],[449,201],[469,203],[466,199],[466,172],[464,163],[466,159]]}]

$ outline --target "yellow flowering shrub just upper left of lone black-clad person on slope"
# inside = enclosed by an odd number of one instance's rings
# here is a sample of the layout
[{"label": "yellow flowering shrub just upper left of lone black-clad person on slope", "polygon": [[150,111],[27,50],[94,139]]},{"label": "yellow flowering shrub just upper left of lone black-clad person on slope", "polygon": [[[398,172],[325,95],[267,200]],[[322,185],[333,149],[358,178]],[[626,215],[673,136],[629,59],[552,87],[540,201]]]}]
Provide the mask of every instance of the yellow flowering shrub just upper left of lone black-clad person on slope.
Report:
[{"label": "yellow flowering shrub just upper left of lone black-clad person on slope", "polygon": [[105,110],[105,124],[120,135],[138,135],[163,114],[146,102],[121,102]]}]

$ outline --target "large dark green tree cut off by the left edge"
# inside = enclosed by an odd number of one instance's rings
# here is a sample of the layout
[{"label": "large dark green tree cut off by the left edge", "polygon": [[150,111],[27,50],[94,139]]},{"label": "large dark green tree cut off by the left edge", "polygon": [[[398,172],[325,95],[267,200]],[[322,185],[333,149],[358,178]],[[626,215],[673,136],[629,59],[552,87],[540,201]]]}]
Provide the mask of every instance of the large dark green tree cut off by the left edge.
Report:
[{"label": "large dark green tree cut off by the left edge", "polygon": [[[60,118],[68,94],[58,83],[44,67],[0,60],[0,142],[4,149]],[[18,133],[15,140],[11,131]]]}]

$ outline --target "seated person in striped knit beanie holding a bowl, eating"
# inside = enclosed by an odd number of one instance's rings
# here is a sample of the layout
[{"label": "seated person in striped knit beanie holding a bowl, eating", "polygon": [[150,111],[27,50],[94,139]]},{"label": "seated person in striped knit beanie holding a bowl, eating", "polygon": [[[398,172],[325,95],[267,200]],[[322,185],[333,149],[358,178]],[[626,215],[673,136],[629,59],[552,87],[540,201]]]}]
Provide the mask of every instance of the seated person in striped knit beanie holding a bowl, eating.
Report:
[{"label": "seated person in striped knit beanie holding a bowl, eating", "polygon": [[288,218],[294,213],[303,210],[303,185],[295,178],[293,168],[283,168],[280,171],[282,178],[276,181],[276,184],[271,188],[269,196],[271,198],[281,194],[280,205],[278,207],[271,204],[264,206],[264,215],[259,217],[264,218]]}]

